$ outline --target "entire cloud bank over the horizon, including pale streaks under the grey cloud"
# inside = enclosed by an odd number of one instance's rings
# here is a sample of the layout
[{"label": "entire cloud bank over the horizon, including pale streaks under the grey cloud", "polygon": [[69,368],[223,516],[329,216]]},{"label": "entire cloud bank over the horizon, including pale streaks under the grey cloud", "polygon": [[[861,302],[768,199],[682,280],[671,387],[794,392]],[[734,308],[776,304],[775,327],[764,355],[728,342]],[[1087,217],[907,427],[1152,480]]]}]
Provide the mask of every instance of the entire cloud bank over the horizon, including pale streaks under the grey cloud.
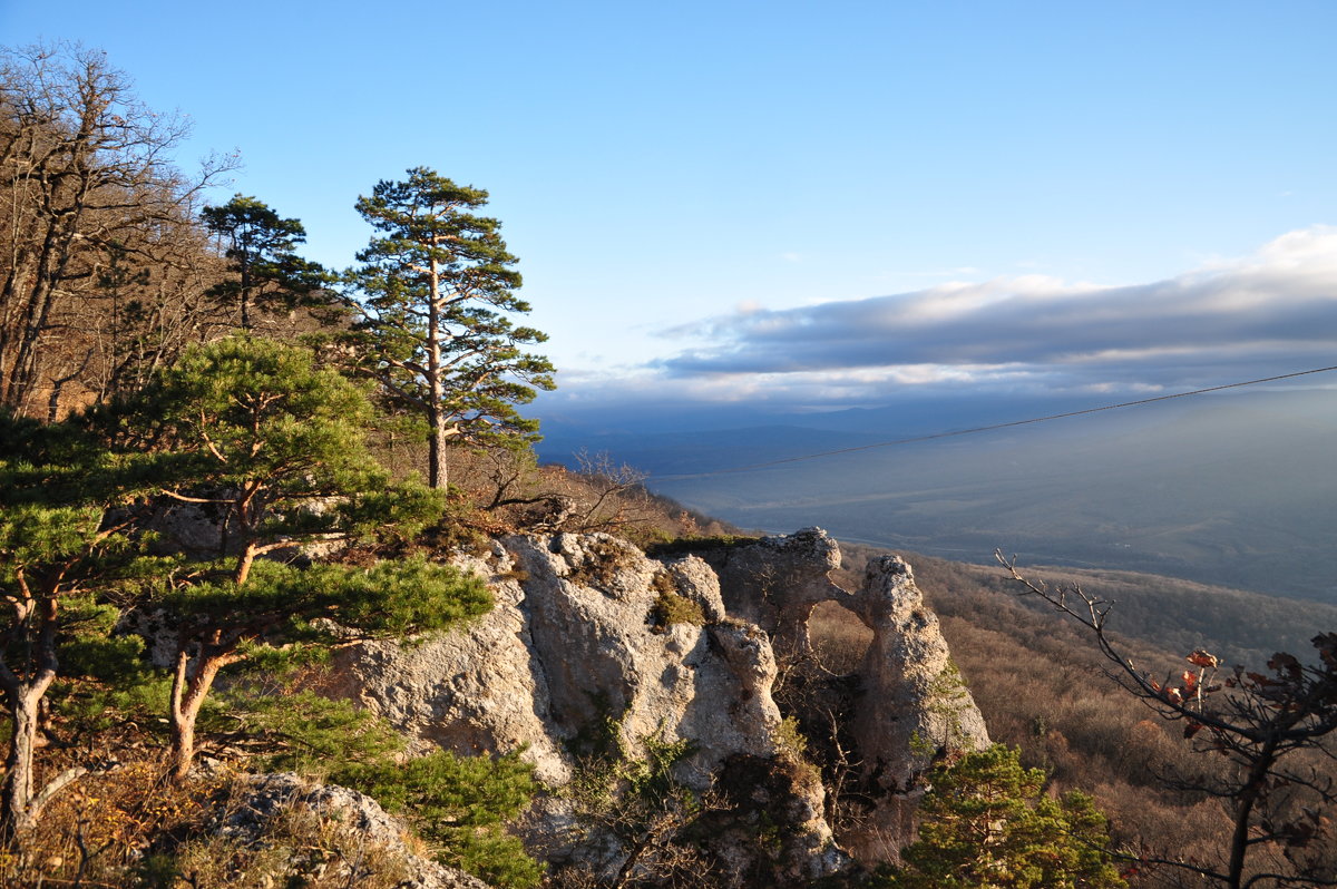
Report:
[{"label": "entire cloud bank over the horizon, including pale streaks under the grey cloud", "polygon": [[937,393],[1218,385],[1337,364],[1337,227],[1292,231],[1251,257],[1152,283],[1008,277],[797,309],[747,306],[664,336],[701,345],[647,362],[639,376],[578,388],[595,400],[817,409]]}]

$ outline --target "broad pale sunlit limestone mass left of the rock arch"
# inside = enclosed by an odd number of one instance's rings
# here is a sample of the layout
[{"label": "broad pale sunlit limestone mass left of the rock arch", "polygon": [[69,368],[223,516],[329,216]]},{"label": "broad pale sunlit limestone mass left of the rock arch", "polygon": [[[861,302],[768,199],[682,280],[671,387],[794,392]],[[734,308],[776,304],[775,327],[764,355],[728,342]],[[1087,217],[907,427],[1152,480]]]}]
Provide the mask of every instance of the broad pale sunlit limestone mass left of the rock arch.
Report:
[{"label": "broad pale sunlit limestone mass left of the rock arch", "polygon": [[[487,559],[460,563],[488,578],[497,602],[488,615],[410,647],[346,648],[330,690],[424,743],[464,754],[523,749],[550,786],[570,781],[579,757],[610,747],[638,759],[651,746],[689,742],[674,777],[694,791],[710,790],[731,758],[775,758],[781,715],[770,694],[777,664],[769,639],[727,619],[702,560],[658,561],[607,535],[501,544]],[[701,606],[702,626],[658,626],[652,614],[664,592]],[[801,790],[790,809],[808,814],[786,823],[786,854],[796,873],[820,876],[838,856],[829,854],[830,828],[810,817],[822,811],[820,782]],[[560,798],[540,801],[527,842],[567,860],[582,854],[576,842],[608,846],[610,837],[576,830],[570,817]]]}]

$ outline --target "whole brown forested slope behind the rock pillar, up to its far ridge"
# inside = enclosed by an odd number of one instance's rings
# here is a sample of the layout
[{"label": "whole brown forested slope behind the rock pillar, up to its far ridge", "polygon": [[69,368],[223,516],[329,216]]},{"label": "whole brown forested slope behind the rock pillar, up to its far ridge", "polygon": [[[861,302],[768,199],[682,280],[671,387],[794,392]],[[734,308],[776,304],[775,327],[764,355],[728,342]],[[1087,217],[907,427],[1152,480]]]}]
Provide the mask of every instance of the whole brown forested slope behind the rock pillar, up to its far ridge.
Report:
[{"label": "whole brown forested slope behind the rock pillar, up to its far ridge", "polygon": [[[844,571],[857,575],[877,549],[844,544]],[[1222,799],[1175,789],[1174,775],[1202,777],[1223,769],[1213,753],[1195,751],[1183,725],[1165,722],[1107,675],[1092,639],[1034,599],[997,565],[973,565],[904,553],[943,623],[971,694],[995,742],[1021,749],[1021,761],[1051,775],[1051,791],[1092,793],[1128,850],[1177,850],[1221,861],[1230,841]],[[1088,592],[1116,600],[1111,626],[1140,670],[1178,676],[1185,655],[1207,648],[1250,668],[1278,650],[1312,655],[1310,638],[1337,626],[1337,610],[1255,594],[1203,587],[1131,572],[1038,569],[1038,579],[1076,579]],[[832,668],[845,668],[866,632],[852,615],[826,608],[814,644]],[[1308,758],[1333,777],[1332,759]],[[1166,870],[1131,874],[1135,885],[1174,885]],[[1139,882],[1140,881],[1140,882]],[[1187,885],[1187,884],[1186,884]]]}]

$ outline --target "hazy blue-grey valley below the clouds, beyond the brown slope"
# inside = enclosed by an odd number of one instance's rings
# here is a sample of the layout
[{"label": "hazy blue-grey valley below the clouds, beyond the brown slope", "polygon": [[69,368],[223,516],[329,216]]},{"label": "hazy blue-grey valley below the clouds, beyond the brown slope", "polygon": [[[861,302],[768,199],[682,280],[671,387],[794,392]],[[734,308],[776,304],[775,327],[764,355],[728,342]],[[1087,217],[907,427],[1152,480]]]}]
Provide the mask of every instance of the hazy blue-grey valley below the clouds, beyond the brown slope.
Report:
[{"label": "hazy blue-grey valley below the clouds, beyond the brown slope", "polygon": [[580,432],[590,449],[648,472],[652,489],[745,528],[817,524],[842,540],[964,561],[1001,548],[1032,564],[1337,603],[1333,400],[1326,390],[1205,396],[742,472],[730,469],[1056,410],[840,412],[652,434],[556,425],[540,449],[568,457]]}]

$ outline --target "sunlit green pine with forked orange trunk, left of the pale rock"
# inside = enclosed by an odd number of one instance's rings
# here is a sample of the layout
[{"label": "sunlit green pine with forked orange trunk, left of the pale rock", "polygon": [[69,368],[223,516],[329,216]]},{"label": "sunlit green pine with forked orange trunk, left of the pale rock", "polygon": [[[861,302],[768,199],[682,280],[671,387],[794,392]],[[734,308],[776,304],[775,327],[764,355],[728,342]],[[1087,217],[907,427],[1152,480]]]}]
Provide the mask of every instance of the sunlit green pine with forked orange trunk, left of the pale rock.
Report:
[{"label": "sunlit green pine with forked orange trunk, left of the pale rock", "polygon": [[393,484],[370,459],[369,418],[366,396],[317,368],[309,350],[245,334],[187,352],[94,418],[118,448],[151,452],[162,496],[221,515],[225,560],[160,599],[179,626],[170,714],[178,779],[218,671],[257,647],[320,643],[316,618],[364,636],[402,636],[491,606],[481,580],[421,559],[369,571],[261,560],[314,541],[410,535],[440,516],[440,495]]}]

